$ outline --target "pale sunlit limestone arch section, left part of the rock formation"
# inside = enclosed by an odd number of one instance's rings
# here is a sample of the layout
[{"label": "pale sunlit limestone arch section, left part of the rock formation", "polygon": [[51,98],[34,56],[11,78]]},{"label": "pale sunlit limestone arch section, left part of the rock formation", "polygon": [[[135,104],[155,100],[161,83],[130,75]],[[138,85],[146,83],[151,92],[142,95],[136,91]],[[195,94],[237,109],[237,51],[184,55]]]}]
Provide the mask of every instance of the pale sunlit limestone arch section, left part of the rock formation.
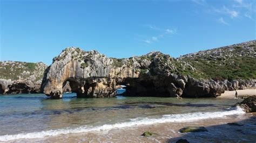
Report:
[{"label": "pale sunlit limestone arch section, left part of the rock formation", "polygon": [[138,77],[134,70],[139,66],[136,62],[133,58],[110,59],[97,51],[67,48],[46,70],[42,89],[52,98],[62,98],[63,87],[69,82],[77,97],[112,97],[120,88],[117,82],[125,77]]}]

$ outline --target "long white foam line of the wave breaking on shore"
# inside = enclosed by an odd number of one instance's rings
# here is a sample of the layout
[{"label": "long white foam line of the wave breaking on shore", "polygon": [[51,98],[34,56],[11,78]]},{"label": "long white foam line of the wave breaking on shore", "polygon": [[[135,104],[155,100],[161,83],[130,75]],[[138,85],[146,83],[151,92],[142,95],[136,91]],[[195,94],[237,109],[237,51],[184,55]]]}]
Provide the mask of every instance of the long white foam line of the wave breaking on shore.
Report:
[{"label": "long white foam line of the wave breaking on shore", "polygon": [[123,128],[130,126],[139,126],[139,125],[151,125],[158,123],[168,123],[168,122],[184,122],[184,121],[195,121],[203,120],[209,118],[222,118],[229,115],[241,115],[245,112],[241,108],[231,108],[227,111],[219,112],[194,112],[194,113],[185,113],[185,114],[174,114],[174,115],[164,115],[160,118],[135,118],[130,121],[116,124],[108,124],[102,126],[80,126],[77,128],[62,128],[58,130],[49,130],[41,132],[32,132],[32,133],[19,133],[12,135],[2,135],[0,136],[0,141],[10,141],[17,139],[35,139],[35,138],[44,138],[46,136],[55,136],[60,134],[69,134],[69,133],[83,133],[91,131],[103,131],[111,130],[112,128]]}]

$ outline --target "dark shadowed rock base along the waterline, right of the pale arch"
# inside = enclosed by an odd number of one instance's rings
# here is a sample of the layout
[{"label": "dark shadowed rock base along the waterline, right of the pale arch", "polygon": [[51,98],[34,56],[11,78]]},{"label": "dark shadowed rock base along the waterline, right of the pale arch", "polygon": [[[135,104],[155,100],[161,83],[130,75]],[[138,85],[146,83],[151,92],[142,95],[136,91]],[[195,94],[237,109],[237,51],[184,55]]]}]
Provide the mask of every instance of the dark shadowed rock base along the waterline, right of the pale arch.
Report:
[{"label": "dark shadowed rock base along the waterline, right of the pale arch", "polygon": [[140,76],[126,80],[125,96],[154,97],[217,97],[224,88],[213,80],[196,80],[190,76],[171,74],[169,76]]}]

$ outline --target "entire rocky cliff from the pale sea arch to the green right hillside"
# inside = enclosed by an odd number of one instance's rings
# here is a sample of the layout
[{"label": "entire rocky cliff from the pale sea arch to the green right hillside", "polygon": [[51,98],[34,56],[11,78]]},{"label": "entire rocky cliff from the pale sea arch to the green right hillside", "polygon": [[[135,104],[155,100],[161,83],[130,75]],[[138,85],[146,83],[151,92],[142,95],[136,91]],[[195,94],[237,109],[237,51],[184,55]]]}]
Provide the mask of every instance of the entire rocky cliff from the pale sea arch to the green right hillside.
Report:
[{"label": "entire rocky cliff from the pale sea arch to the green right hillside", "polygon": [[51,98],[62,98],[64,87],[77,97],[112,97],[120,85],[126,85],[126,96],[217,97],[255,88],[255,45],[254,40],[177,59],[160,52],[115,59],[66,48],[45,70],[41,88]]}]

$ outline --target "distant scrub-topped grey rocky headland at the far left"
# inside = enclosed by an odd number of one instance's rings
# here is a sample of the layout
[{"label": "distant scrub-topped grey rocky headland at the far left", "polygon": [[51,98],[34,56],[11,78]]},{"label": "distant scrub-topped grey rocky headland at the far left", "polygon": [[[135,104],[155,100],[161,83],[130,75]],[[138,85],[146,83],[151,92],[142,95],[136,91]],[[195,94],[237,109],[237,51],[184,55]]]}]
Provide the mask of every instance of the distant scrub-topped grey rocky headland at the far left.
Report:
[{"label": "distant scrub-topped grey rocky headland at the far left", "polygon": [[46,65],[42,62],[0,62],[0,94],[40,93]]}]

